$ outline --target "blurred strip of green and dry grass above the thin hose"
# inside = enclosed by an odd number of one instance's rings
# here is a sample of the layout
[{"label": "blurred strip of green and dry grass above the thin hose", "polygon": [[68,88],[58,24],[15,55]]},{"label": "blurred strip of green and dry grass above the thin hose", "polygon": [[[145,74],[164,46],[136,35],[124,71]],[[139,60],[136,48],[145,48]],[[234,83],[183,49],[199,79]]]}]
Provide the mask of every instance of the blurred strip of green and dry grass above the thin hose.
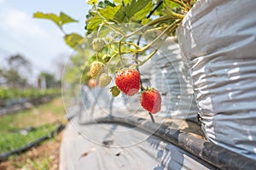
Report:
[{"label": "blurred strip of green and dry grass above the thin hose", "polygon": [[[38,139],[57,127],[57,122],[65,121],[61,98],[31,110],[0,116],[0,153],[20,148]],[[35,127],[35,130],[22,135],[17,129]],[[16,129],[15,132],[11,132]]]}]

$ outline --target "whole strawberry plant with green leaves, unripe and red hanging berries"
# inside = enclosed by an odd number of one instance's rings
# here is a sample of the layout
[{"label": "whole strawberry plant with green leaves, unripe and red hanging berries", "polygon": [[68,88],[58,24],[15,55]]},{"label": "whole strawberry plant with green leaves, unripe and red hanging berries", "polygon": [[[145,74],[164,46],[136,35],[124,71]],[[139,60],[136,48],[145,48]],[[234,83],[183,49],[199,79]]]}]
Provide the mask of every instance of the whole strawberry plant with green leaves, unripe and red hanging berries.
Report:
[{"label": "whole strawberry plant with green leaves, unripe and red hanging berries", "polygon": [[114,97],[120,91],[131,96],[141,89],[143,108],[151,113],[160,111],[160,93],[143,87],[139,67],[157,53],[166,37],[175,35],[195,0],[89,0],[87,3],[91,8],[86,15],[84,39],[76,33],[67,35],[63,31],[64,24],[76,22],[67,14],[38,12],[34,17],[54,21],[65,34],[67,44],[81,55],[89,51],[85,66],[78,65],[84,69],[82,82],[98,79],[100,87],[104,88],[115,75],[116,86],[110,88]]}]

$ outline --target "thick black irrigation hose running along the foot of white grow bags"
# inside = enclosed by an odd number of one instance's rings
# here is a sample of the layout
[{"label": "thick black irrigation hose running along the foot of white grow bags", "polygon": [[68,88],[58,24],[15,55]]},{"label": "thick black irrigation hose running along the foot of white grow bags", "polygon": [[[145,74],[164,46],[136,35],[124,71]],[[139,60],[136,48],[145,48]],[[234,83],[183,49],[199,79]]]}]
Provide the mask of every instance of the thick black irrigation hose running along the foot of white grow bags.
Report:
[{"label": "thick black irrigation hose running along the foot of white grow bags", "polygon": [[180,131],[178,129],[171,129],[166,125],[160,125],[155,122],[148,122],[144,118],[137,117],[113,117],[108,116],[96,119],[92,122],[84,122],[83,125],[90,125],[95,123],[117,123],[125,124],[132,127],[139,127],[148,133],[154,133],[160,139],[166,140],[177,147],[188,151],[192,155],[207,161],[214,167],[219,169],[252,169],[256,167],[256,161],[250,158],[241,156],[240,154],[227,150],[217,144],[212,144],[203,139]]}]

